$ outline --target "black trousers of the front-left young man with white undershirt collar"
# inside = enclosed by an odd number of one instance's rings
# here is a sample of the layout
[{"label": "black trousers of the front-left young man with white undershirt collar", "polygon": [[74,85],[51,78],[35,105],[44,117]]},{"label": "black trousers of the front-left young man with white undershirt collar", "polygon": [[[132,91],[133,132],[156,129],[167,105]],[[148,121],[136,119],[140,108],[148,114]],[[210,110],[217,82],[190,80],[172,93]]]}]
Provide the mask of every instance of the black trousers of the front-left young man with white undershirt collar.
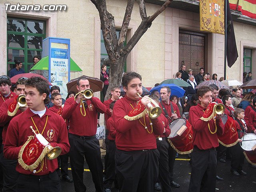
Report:
[{"label": "black trousers of the front-left young man with white undershirt collar", "polygon": [[43,176],[19,174],[17,192],[61,192],[56,171]]}]

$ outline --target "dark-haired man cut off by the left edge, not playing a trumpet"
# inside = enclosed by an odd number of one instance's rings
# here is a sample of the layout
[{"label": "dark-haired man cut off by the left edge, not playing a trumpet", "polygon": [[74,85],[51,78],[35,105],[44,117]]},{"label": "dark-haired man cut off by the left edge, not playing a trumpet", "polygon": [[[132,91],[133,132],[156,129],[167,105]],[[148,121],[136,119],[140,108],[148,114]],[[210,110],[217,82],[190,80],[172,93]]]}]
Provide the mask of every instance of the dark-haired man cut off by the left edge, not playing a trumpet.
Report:
[{"label": "dark-haired man cut off by the left edge, not playing a trumpet", "polygon": [[[8,100],[12,99],[16,96],[14,92],[11,91],[11,80],[8,76],[2,75],[0,76],[0,106]],[[0,124],[0,146],[2,145],[2,132],[4,125]],[[3,171],[2,168],[0,168],[0,189],[2,190],[3,187]]]}]

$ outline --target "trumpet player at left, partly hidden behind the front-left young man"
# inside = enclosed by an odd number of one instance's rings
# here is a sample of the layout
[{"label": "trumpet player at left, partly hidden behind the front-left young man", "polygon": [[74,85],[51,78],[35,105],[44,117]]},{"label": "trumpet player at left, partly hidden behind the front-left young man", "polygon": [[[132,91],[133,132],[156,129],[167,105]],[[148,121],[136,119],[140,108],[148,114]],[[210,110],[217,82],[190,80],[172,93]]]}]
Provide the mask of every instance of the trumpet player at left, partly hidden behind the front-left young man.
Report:
[{"label": "trumpet player at left, partly hidden behind the front-left young man", "polygon": [[[6,158],[4,158],[3,149],[4,149],[5,138],[6,138],[6,132],[7,132],[7,128],[10,123],[10,120],[12,120],[12,118],[17,116],[18,114],[21,114],[28,108],[28,106],[21,107],[17,104],[17,97],[25,94],[25,81],[26,81],[25,78],[20,78],[16,82],[14,92],[17,94],[17,96],[6,100],[0,107],[0,122],[4,127],[2,132],[3,142],[2,142],[1,153],[0,153],[0,165],[2,167],[3,174],[4,174],[3,189],[4,191],[9,191],[9,192],[11,191],[16,192],[16,183],[18,179],[18,172],[16,171],[17,160],[7,160]],[[10,106],[10,110],[11,109],[15,110],[16,108],[18,109],[16,110],[16,112],[12,112],[12,114],[10,114],[10,111],[8,109],[9,106]]]}]

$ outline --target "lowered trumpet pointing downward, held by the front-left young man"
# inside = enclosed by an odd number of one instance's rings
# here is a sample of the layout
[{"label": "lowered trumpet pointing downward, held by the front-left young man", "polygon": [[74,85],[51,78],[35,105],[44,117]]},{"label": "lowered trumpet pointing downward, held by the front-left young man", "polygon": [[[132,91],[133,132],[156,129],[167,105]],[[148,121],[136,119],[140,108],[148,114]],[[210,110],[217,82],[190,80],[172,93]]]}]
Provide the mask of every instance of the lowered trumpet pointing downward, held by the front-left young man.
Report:
[{"label": "lowered trumpet pointing downward, held by the front-left young man", "polygon": [[34,132],[38,141],[48,149],[49,152],[46,154],[46,158],[48,160],[53,160],[61,154],[62,149],[59,146],[51,146],[50,143],[44,138],[44,136],[42,136],[41,134],[36,134],[32,126],[30,126],[30,129],[32,129],[32,131]]}]

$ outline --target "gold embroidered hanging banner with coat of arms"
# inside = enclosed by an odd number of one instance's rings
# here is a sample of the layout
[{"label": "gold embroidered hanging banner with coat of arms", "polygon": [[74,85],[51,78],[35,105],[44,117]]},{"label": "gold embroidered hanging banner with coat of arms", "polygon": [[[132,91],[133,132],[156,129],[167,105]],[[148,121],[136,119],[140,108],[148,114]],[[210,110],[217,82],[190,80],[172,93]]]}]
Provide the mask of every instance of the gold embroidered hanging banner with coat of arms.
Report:
[{"label": "gold embroidered hanging banner with coat of arms", "polygon": [[200,30],[224,34],[224,0],[200,0]]}]

